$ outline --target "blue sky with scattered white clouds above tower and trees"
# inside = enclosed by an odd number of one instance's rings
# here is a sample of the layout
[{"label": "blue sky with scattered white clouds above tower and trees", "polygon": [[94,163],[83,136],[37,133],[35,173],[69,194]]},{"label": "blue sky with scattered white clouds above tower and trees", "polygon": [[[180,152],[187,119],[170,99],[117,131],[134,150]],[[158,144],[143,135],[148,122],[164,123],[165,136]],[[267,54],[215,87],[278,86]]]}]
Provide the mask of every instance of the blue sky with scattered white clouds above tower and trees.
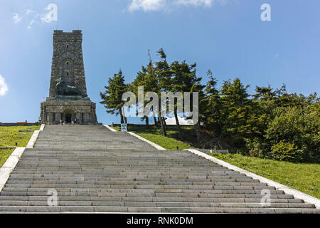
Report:
[{"label": "blue sky with scattered white clouds above tower and trees", "polygon": [[[262,4],[272,21],[262,21]],[[42,19],[49,4],[58,20]],[[119,123],[100,105],[99,92],[122,68],[132,81],[163,47],[169,61],[210,68],[220,83],[239,77],[290,93],[319,93],[320,1],[290,0],[1,0],[0,122],[35,122],[48,96],[53,30],[83,33],[87,92],[100,123]],[[131,120],[131,122],[134,120]]]}]

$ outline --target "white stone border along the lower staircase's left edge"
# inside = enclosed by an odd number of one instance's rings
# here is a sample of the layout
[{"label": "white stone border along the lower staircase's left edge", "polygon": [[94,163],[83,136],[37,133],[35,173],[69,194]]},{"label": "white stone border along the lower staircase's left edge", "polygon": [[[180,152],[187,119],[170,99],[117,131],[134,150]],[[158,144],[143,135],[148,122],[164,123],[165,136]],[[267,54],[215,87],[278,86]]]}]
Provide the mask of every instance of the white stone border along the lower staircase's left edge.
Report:
[{"label": "white stone border along the lower staircase's left edge", "polygon": [[4,165],[0,168],[0,192],[4,188],[10,173],[14,170],[14,167],[16,167],[16,163],[18,163],[25,149],[26,147],[16,147],[16,150],[11,153],[6,162],[4,162]]}]

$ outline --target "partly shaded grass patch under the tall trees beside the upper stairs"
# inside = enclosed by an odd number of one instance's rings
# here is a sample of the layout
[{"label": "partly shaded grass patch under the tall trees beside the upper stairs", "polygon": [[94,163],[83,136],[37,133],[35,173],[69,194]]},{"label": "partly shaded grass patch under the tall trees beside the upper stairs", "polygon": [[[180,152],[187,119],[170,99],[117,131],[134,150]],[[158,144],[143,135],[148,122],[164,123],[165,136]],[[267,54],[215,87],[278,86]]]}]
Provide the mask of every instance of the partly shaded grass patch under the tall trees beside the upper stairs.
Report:
[{"label": "partly shaded grass patch under the tall trees beside the upper stairs", "polygon": [[[120,130],[120,127],[113,127],[114,130]],[[182,130],[189,130],[189,126],[181,126]],[[154,125],[149,125],[149,128],[146,128],[144,125],[129,125],[128,131],[132,131],[137,135],[156,143],[157,145],[164,147],[166,150],[184,150],[192,148],[188,142],[182,142],[178,140],[178,133],[176,131],[176,126],[167,126],[166,137],[161,135],[161,128]]]}]

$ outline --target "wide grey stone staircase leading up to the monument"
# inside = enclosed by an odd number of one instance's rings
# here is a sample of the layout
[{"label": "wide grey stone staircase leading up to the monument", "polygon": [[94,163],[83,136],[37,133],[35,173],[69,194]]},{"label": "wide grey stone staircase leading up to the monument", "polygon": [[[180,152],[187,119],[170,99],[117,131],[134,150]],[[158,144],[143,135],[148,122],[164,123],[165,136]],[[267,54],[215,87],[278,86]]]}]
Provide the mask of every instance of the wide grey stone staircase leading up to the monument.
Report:
[{"label": "wide grey stone staircase leading up to the monument", "polygon": [[[48,206],[48,190],[58,192],[57,206]],[[156,150],[103,126],[46,125],[0,192],[0,212],[320,211],[191,152]]]}]

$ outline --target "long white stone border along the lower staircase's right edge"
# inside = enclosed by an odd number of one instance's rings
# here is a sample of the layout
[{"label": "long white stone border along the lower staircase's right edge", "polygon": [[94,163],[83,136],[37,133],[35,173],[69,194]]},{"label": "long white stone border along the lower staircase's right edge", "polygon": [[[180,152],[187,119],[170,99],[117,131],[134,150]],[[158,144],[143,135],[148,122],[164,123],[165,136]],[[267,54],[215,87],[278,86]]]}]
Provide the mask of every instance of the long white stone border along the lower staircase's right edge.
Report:
[{"label": "long white stone border along the lower staircase's right edge", "polygon": [[277,190],[282,190],[286,194],[293,195],[295,198],[303,199],[304,202],[314,204],[317,209],[320,208],[320,199],[317,199],[316,197],[311,197],[311,195],[307,195],[304,192],[299,192],[298,190],[294,190],[291,187],[287,187],[285,185],[279,184],[278,182],[274,182],[273,180],[269,180],[265,177],[261,177],[260,175],[256,175],[256,174],[249,172],[247,170],[243,170],[240,167],[237,167],[235,165],[230,165],[228,162],[223,162],[222,160],[219,160],[218,158],[207,155],[204,152],[200,152],[200,151],[194,150],[194,149],[186,149],[186,150],[193,152],[194,154],[196,154],[200,157],[205,157],[206,159],[213,161],[215,163],[218,163],[219,165],[223,165],[224,167],[228,167],[230,170],[244,173],[248,177],[252,177],[254,179],[260,180],[260,182],[266,183],[267,185],[276,187]]}]

